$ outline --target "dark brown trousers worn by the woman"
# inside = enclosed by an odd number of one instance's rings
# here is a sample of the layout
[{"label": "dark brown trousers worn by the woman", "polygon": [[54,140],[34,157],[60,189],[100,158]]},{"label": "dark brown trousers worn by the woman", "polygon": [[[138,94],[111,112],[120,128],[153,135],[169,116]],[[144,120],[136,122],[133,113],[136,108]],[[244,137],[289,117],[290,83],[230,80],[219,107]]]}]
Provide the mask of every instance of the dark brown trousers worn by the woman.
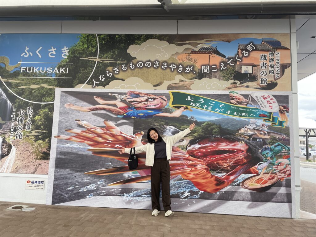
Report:
[{"label": "dark brown trousers worn by the woman", "polygon": [[159,194],[160,183],[162,192],[162,204],[166,211],[171,210],[170,204],[170,167],[167,158],[155,159],[151,167],[151,205],[152,209],[160,211]]}]

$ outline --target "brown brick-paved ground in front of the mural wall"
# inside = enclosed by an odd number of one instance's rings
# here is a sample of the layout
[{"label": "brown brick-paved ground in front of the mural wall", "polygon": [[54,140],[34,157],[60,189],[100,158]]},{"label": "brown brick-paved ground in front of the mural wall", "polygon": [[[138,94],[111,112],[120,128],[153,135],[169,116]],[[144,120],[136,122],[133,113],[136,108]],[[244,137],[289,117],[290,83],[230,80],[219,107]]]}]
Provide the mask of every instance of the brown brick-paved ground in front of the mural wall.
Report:
[{"label": "brown brick-paved ground in front of the mural wall", "polygon": [[[1,237],[270,237],[316,236],[316,220],[0,202]],[[255,210],[254,210],[255,211]]]}]

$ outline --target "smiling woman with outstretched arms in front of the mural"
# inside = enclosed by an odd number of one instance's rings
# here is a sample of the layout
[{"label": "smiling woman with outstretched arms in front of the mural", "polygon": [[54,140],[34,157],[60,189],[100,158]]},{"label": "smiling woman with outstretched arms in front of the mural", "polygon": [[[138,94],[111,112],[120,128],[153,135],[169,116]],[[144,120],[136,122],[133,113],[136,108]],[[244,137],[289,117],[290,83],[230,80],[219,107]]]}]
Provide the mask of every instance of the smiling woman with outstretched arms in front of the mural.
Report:
[{"label": "smiling woman with outstretched arms in front of the mural", "polygon": [[[152,214],[157,216],[160,212],[159,193],[160,183],[162,191],[162,204],[165,210],[165,216],[173,216],[170,200],[170,167],[171,150],[174,143],[190,133],[195,127],[192,123],[187,129],[173,135],[161,138],[155,128],[150,128],[147,132],[148,143],[135,148],[135,153],[146,152],[145,165],[151,166],[151,205]],[[130,148],[122,148],[120,154],[129,153]]]}]

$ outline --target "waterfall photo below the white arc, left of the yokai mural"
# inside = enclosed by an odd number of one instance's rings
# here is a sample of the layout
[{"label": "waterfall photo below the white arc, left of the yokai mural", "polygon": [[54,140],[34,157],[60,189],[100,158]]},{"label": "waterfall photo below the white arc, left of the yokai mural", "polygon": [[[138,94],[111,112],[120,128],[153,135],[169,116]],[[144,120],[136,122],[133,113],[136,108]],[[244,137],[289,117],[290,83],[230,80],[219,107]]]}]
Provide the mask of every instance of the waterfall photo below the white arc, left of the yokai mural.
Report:
[{"label": "waterfall photo below the white arc, left of the yokai mural", "polygon": [[52,106],[21,100],[5,86],[0,106],[0,173],[47,174]]}]

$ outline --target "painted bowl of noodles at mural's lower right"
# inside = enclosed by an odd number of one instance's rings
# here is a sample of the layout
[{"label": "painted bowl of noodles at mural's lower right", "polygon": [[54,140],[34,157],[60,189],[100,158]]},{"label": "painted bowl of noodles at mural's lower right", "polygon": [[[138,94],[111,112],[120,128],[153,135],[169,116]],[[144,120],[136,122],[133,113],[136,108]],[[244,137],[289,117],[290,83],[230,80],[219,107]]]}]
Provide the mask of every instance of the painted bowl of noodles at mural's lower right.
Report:
[{"label": "painted bowl of noodles at mural's lower right", "polygon": [[240,183],[240,187],[256,192],[264,192],[269,190],[279,180],[275,173],[260,173],[243,180]]}]

